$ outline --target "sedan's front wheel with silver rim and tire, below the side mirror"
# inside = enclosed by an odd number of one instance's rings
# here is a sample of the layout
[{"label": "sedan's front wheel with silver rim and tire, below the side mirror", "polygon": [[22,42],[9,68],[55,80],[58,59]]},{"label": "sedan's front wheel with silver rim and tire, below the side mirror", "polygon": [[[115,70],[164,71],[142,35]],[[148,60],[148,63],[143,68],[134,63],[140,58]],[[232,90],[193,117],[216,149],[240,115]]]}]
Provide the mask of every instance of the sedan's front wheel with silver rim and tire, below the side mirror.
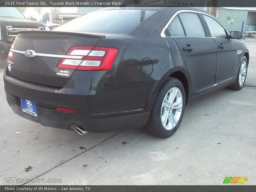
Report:
[{"label": "sedan's front wheel with silver rim and tire, below the side mirror", "polygon": [[243,88],[247,75],[247,67],[248,61],[247,58],[244,56],[242,62],[240,63],[240,67],[236,76],[236,83],[230,86],[231,89],[240,90]]}]

